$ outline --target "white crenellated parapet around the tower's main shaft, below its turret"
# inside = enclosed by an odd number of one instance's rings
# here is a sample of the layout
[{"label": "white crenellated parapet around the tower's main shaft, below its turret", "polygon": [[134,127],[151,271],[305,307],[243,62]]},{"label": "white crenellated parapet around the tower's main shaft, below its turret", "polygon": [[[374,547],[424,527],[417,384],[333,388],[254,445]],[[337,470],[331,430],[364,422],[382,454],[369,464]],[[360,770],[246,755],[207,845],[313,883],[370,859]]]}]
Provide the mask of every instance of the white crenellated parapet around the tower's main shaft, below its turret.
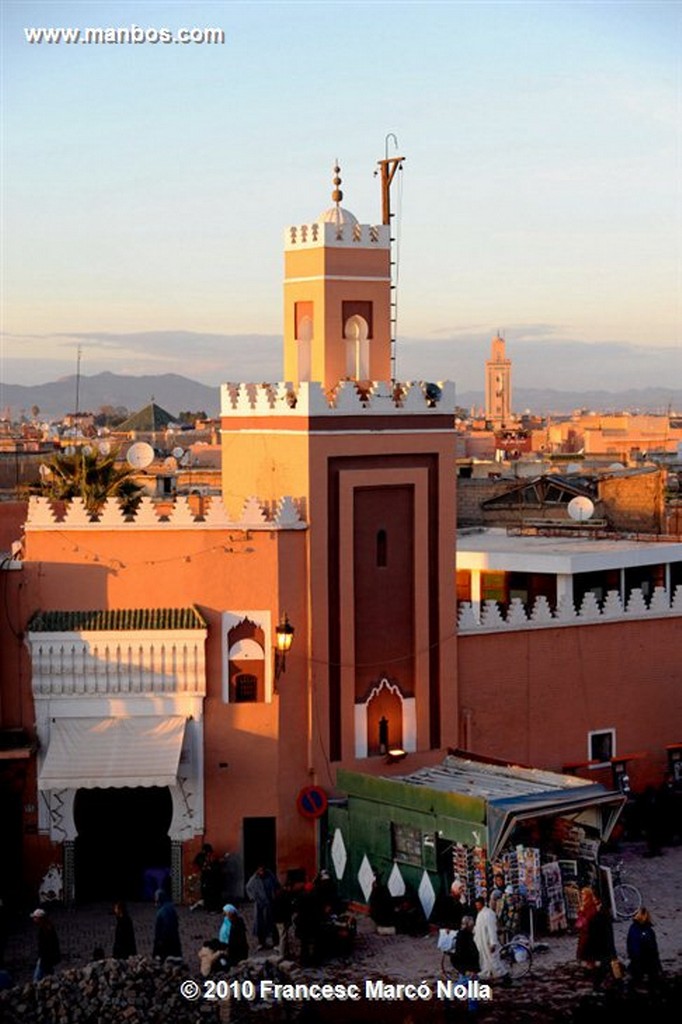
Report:
[{"label": "white crenellated parapet around the tower's main shaft, below its turret", "polygon": [[[404,417],[454,416],[453,381],[340,381],[325,390],[318,381],[298,384],[226,383],[220,388],[223,417]],[[396,424],[397,425],[397,424]]]}]

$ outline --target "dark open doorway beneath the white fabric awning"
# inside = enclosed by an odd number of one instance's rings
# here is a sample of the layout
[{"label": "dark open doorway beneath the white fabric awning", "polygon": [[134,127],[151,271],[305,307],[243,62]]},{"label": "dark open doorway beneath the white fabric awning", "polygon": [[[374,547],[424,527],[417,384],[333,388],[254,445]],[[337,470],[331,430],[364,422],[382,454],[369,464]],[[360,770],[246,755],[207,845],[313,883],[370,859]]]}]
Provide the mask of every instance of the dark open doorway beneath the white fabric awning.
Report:
[{"label": "dark open doorway beneath the white fabric awning", "polygon": [[76,899],[150,899],[170,877],[168,788],[79,790],[74,803]]}]

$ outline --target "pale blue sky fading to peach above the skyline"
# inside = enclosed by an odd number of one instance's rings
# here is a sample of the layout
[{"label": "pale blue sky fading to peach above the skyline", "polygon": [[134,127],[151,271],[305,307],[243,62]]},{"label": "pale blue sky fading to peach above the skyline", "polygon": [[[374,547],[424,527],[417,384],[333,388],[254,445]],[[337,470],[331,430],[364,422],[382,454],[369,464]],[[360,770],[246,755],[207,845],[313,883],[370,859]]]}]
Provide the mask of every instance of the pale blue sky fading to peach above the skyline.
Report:
[{"label": "pale blue sky fading to peach above the skyline", "polygon": [[[682,381],[682,3],[3,0],[0,378],[281,376],[283,240],[380,220],[404,156],[397,371]],[[27,28],[224,43],[30,44]]]}]

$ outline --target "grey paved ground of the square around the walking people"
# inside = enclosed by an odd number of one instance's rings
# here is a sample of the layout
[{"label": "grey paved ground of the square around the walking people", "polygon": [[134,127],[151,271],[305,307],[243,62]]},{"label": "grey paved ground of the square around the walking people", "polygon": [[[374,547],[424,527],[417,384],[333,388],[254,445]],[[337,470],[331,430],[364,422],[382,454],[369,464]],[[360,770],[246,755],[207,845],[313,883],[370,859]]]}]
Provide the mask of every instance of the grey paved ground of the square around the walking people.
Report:
[{"label": "grey paved ground of the square around the walking people", "polygon": [[[652,859],[645,859],[642,853],[643,846],[633,844],[624,848],[617,857],[625,861],[627,880],[638,886],[645,904],[651,910],[667,975],[667,995],[664,993],[664,997],[658,998],[645,992],[626,993],[617,986],[594,992],[590,979],[574,963],[576,938],[553,936],[547,940],[549,949],[536,955],[531,974],[522,981],[515,982],[510,988],[496,985],[493,1000],[479,1004],[475,1016],[491,1024],[502,1024],[503,1021],[530,1024],[559,1020],[591,1024],[597,1019],[600,1022],[610,1022],[616,1015],[624,1016],[632,1009],[635,1013],[647,1013],[655,1024],[669,1019],[677,1022],[682,1005],[682,991],[676,987],[680,985],[682,978],[682,847],[667,849],[664,856]],[[155,909],[150,904],[132,904],[129,909],[135,924],[138,951],[150,955]],[[250,919],[250,907],[246,906],[244,909]],[[220,915],[208,914],[201,909],[190,913],[187,908],[181,907],[179,916],[182,948],[187,964],[186,975],[197,976],[197,951],[205,939],[217,934]],[[111,951],[114,919],[109,905],[74,910],[55,908],[53,918],[63,950],[59,972],[72,975],[74,968],[85,966],[96,946],[103,947],[106,953]],[[616,923],[614,927],[616,947],[623,958],[628,927],[627,922]],[[17,985],[25,984],[31,978],[35,941],[34,926],[27,915],[10,935],[5,950],[6,967]],[[273,963],[265,953],[253,954],[255,969],[260,965],[263,970],[268,970],[268,965]],[[305,977],[316,981],[359,983],[361,986],[366,979],[382,978],[394,983],[426,981],[435,989],[435,982],[440,977],[440,953],[436,950],[433,934],[417,939],[379,936],[372,923],[360,918],[352,957],[333,961],[316,970],[307,970]],[[675,1000],[677,1009],[670,1016]],[[273,1021],[284,1020],[290,1014],[285,1013],[283,1016],[274,1010],[268,1014]],[[352,1006],[347,1002],[306,1005],[301,1019],[310,1022],[416,1024],[427,1018],[432,1022],[466,1021],[472,1019],[472,1016],[467,1010],[466,1001],[451,1005],[446,1000],[434,999],[428,1002],[389,1000]],[[228,1017],[229,1008],[225,1007],[220,1019],[227,1020]],[[236,1017],[232,1013],[232,1019]],[[198,1016],[197,1020],[200,1019],[207,1018]],[[50,1024],[47,1019],[46,1024]]]}]

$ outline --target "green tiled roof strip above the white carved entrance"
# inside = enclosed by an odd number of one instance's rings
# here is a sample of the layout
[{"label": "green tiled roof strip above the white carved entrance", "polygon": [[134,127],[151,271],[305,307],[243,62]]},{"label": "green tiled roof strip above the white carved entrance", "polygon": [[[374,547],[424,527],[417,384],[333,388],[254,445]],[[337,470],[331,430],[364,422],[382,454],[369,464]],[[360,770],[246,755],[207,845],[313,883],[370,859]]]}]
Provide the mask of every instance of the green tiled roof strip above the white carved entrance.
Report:
[{"label": "green tiled roof strip above the white carved entrance", "polygon": [[37,611],[29,633],[106,633],[118,630],[205,630],[197,608],[103,608],[92,611]]}]

